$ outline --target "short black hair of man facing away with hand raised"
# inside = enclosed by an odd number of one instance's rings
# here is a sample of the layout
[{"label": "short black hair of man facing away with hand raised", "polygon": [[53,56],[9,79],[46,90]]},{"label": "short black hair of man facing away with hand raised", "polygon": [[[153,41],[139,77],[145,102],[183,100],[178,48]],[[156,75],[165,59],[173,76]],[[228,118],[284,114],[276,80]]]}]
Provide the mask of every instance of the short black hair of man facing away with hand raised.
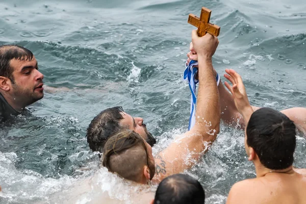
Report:
[{"label": "short black hair of man facing away with hand raised", "polygon": [[293,164],[296,127],[285,114],[271,108],[255,111],[246,127],[247,145],[268,169],[282,170]]}]

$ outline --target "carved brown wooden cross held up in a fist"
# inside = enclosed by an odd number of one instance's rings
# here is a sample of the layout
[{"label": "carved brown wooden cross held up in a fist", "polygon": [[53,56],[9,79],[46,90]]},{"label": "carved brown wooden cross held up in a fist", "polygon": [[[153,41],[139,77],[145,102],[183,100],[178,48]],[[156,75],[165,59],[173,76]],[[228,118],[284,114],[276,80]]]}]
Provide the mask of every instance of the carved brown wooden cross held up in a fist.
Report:
[{"label": "carved brown wooden cross held up in a fist", "polygon": [[200,18],[189,14],[188,23],[198,28],[197,33],[199,37],[204,36],[206,33],[210,33],[216,37],[219,35],[220,27],[209,22],[211,13],[211,10],[202,7]]}]

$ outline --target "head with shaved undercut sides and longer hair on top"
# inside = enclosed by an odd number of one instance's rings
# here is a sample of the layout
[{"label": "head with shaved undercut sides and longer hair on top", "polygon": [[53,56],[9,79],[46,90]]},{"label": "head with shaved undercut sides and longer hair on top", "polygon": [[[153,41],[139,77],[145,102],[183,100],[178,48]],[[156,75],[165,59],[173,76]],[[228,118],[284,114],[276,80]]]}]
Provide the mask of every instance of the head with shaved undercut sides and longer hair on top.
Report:
[{"label": "head with shaved undercut sides and longer hair on top", "polygon": [[108,139],[102,165],[110,172],[140,184],[148,184],[155,174],[152,147],[130,129],[122,129]]}]

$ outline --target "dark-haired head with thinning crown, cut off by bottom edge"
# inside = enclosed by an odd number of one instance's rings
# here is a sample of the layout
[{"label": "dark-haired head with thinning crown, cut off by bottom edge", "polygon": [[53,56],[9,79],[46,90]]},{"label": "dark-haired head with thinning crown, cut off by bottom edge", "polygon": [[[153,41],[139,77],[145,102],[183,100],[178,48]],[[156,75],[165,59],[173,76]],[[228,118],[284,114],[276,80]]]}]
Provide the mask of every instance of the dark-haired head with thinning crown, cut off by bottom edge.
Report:
[{"label": "dark-haired head with thinning crown, cut off by bottom edge", "polygon": [[166,177],[158,186],[154,204],[202,204],[205,191],[201,184],[186,174]]}]

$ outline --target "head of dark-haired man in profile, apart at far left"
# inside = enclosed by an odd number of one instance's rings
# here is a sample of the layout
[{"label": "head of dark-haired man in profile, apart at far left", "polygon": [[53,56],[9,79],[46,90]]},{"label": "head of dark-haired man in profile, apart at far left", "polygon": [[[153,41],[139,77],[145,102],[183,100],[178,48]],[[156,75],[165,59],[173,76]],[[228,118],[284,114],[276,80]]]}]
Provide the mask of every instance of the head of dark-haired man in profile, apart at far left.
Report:
[{"label": "head of dark-haired man in profile, apart at far left", "polygon": [[[33,53],[19,45],[0,46],[0,93],[24,108],[43,97],[43,74]],[[14,107],[13,107],[14,108]]]}]

